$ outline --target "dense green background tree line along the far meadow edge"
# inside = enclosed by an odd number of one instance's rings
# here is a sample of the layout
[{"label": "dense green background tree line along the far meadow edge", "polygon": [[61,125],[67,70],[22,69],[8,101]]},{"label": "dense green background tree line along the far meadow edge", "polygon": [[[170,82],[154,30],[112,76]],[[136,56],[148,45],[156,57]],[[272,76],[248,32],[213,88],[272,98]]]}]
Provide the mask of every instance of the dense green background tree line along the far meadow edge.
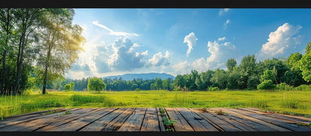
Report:
[{"label": "dense green background tree line along the far meadow edge", "polygon": [[[306,54],[292,53],[288,58],[272,58],[264,61],[257,61],[255,55],[247,55],[242,58],[239,65],[235,59],[228,59],[227,69],[208,69],[199,73],[191,70],[189,74],[178,74],[175,79],[146,79],[134,78],[123,80],[122,77],[101,79],[107,91],[128,91],[128,90],[181,90],[181,91],[211,91],[213,89],[231,90],[256,90],[275,89],[277,85],[284,87],[298,87],[310,85],[311,80],[311,43],[307,44]],[[88,87],[88,78],[63,80],[62,85],[54,84],[54,89],[60,89],[65,84],[73,82],[76,91],[85,90]],[[60,83],[60,82],[59,82]],[[56,87],[56,88],[55,88]]]}]

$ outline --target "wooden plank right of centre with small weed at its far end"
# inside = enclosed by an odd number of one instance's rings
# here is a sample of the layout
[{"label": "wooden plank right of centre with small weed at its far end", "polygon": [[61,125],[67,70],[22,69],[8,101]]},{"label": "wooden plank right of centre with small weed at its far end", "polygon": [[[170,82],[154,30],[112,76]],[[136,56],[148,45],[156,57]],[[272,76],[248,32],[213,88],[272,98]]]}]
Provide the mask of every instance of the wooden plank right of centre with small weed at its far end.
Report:
[{"label": "wooden plank right of centre with small weed at its far end", "polygon": [[[260,132],[276,132],[277,130],[274,130],[272,128],[269,128],[267,126],[269,126],[269,123],[266,123],[264,121],[255,119],[255,118],[251,118],[248,116],[244,116],[242,114],[239,113],[235,113],[233,111],[228,110],[229,108],[209,108],[210,112],[215,112],[217,113],[219,110],[222,110],[224,112],[226,112],[226,116],[236,120],[242,124],[245,124],[251,128],[254,128]],[[266,126],[267,125],[267,126]]]}]

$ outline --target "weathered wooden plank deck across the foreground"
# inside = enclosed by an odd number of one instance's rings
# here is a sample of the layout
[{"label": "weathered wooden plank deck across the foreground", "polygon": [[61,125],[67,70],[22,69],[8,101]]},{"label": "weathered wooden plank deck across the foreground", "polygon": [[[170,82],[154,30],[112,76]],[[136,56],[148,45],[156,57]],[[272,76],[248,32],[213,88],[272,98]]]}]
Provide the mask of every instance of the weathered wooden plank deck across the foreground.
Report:
[{"label": "weathered wooden plank deck across the foreground", "polygon": [[[255,108],[164,108],[175,132],[309,132],[311,118]],[[73,108],[10,116],[0,132],[165,132],[159,108]],[[219,111],[224,115],[219,115]],[[64,112],[61,112],[64,113]]]}]

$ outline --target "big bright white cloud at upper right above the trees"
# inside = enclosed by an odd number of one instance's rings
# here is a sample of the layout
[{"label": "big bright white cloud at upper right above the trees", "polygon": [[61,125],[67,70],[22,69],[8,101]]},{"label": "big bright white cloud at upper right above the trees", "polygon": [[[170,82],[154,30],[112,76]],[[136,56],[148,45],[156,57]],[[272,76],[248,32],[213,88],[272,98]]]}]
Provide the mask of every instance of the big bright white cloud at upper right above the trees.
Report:
[{"label": "big bright white cloud at upper right above the trees", "polygon": [[284,56],[287,50],[296,48],[296,45],[301,44],[303,38],[302,35],[297,35],[301,29],[302,26],[294,26],[289,23],[279,26],[276,31],[269,34],[268,42],[262,45],[257,54],[258,60]]}]

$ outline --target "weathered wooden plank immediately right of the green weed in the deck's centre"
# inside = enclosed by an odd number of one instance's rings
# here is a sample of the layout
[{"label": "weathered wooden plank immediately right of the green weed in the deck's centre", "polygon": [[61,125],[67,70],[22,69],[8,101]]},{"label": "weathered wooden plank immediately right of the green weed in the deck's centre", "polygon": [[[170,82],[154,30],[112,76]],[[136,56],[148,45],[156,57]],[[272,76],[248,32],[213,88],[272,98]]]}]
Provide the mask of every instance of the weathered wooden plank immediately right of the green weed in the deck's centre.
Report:
[{"label": "weathered wooden plank immediately right of the green weed in the deck's centre", "polygon": [[189,131],[193,132],[193,128],[186,121],[184,117],[177,111],[175,108],[165,108],[167,116],[171,118],[173,121],[176,121],[174,125],[174,130],[177,132]]}]

